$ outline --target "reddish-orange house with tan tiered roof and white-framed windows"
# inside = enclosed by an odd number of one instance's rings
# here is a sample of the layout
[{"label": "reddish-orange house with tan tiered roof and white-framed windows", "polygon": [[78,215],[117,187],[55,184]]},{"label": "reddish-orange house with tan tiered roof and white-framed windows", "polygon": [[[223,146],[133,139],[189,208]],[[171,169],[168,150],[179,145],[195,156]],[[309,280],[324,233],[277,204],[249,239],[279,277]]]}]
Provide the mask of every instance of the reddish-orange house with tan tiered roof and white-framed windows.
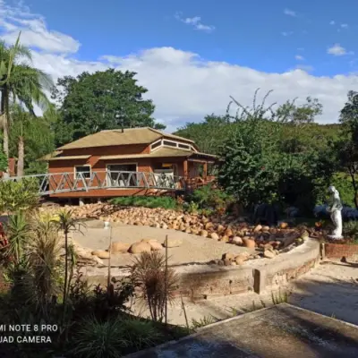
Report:
[{"label": "reddish-orange house with tan tiered roof and white-framed windows", "polygon": [[[88,135],[45,160],[49,183],[63,188],[50,197],[99,199],[190,189],[213,179],[208,166],[218,158],[201,153],[193,141],[144,127]],[[70,190],[74,181],[86,190]]]}]

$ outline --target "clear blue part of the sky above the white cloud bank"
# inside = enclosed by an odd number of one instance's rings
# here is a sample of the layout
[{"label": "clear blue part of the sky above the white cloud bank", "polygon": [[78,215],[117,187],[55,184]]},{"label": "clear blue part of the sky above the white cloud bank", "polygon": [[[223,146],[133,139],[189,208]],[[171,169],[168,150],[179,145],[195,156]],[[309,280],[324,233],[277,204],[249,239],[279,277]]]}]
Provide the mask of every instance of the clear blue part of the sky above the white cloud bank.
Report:
[{"label": "clear blue part of the sky above the white cloud bank", "polygon": [[[81,60],[170,46],[265,72],[303,65],[312,66],[317,75],[333,75],[357,68],[351,64],[354,55],[327,54],[335,44],[347,52],[357,46],[354,0],[32,0],[26,4],[45,16],[51,28],[81,42],[77,55]],[[180,12],[183,20],[200,16],[202,24],[215,30],[193,30],[194,25],[175,19]],[[296,60],[296,55],[305,60]]]}]

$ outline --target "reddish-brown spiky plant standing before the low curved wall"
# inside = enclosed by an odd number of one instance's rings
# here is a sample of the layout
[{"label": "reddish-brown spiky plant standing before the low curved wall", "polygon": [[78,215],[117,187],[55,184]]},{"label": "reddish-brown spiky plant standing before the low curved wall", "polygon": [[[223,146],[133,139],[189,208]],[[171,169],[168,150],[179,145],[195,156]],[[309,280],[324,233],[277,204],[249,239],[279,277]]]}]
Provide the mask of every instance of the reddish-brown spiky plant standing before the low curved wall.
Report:
[{"label": "reddish-brown spiky plant standing before the low curved wall", "polygon": [[164,319],[166,303],[174,299],[178,276],[166,268],[166,258],[159,251],[143,252],[135,258],[132,281],[141,287],[141,298],[147,303],[152,320]]}]

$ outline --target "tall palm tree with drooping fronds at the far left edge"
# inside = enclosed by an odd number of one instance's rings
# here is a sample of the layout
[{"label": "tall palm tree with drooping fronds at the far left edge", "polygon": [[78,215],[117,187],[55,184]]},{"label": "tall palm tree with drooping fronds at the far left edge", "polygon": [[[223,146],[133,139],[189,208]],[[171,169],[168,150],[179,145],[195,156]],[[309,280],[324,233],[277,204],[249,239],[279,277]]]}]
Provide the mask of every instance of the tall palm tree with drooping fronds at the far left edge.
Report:
[{"label": "tall palm tree with drooping fronds at the far left edge", "polygon": [[[21,46],[20,36],[21,33],[11,47],[6,47],[4,41],[0,41],[0,117],[6,158],[9,158],[10,103],[20,101],[30,114],[35,115],[33,103],[47,107],[49,101],[45,90],[53,86],[45,72],[21,62],[27,60],[31,63],[32,56],[28,47]],[[8,170],[5,175],[9,175]]]}]

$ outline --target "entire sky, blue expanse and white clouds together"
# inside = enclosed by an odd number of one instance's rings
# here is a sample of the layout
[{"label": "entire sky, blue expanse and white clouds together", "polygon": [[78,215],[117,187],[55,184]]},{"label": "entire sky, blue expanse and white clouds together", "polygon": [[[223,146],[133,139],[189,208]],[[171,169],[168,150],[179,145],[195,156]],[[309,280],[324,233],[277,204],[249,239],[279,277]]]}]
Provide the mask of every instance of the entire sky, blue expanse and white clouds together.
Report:
[{"label": "entire sky, blue expanse and white clouds together", "polygon": [[340,0],[0,0],[0,38],[33,49],[54,80],[107,67],[138,72],[169,132],[250,105],[307,96],[335,123],[358,90],[358,2]]}]

